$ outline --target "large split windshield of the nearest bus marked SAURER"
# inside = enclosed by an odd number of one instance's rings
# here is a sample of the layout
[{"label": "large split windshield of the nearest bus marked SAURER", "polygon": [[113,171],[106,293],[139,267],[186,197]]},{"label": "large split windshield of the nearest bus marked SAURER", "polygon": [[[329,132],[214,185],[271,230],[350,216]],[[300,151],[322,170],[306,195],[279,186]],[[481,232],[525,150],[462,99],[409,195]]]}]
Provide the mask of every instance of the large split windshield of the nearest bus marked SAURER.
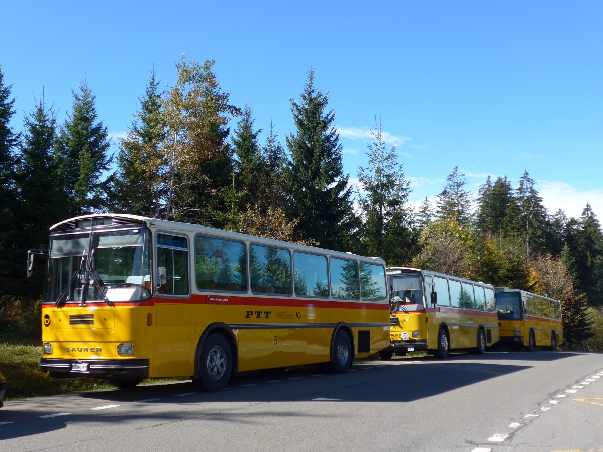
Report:
[{"label": "large split windshield of the nearest bus marked SAURER", "polygon": [[45,303],[140,301],[151,296],[148,231],[51,237]]}]

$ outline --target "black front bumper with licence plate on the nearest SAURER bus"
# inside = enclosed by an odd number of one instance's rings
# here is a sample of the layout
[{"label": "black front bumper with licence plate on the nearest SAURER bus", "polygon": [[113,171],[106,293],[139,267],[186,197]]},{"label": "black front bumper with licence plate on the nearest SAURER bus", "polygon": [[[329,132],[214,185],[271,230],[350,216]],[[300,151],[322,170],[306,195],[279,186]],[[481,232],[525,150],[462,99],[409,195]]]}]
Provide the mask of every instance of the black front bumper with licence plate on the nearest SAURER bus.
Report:
[{"label": "black front bumper with licence plate on the nearest SAURER bus", "polygon": [[51,377],[147,378],[148,359],[51,359],[42,358],[40,368]]}]

